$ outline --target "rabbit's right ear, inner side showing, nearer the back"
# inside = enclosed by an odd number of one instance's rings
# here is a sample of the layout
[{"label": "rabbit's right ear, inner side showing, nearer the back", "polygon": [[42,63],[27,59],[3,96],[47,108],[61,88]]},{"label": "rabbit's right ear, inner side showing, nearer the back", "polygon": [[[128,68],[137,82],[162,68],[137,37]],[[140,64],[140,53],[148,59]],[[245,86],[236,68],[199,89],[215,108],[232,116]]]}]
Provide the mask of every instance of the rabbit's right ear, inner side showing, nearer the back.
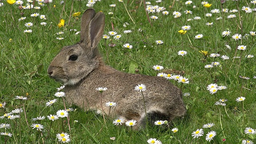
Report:
[{"label": "rabbit's right ear, inner side showing, nearer the back", "polygon": [[89,24],[88,38],[87,44],[91,48],[96,48],[98,43],[100,42],[105,26],[105,16],[102,12],[98,12],[95,14],[94,18],[92,18]]}]

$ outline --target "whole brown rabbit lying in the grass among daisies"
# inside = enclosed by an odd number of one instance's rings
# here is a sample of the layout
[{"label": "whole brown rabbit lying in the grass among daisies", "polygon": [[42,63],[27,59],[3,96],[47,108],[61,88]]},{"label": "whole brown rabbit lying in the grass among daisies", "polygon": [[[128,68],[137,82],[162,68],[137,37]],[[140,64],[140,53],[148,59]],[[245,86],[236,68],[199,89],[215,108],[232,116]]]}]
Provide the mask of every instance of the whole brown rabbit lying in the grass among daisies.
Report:
[{"label": "whole brown rabbit lying in the grass among daisies", "polygon": [[[104,14],[87,9],[81,18],[80,42],[64,46],[50,63],[48,75],[66,86],[67,102],[110,117],[136,120],[134,128],[143,128],[147,122],[154,125],[156,120],[183,117],[186,108],[182,92],[171,82],[158,76],[120,72],[104,64],[97,48],[104,26]],[[144,101],[142,92],[134,90],[138,84],[147,87]],[[102,92],[103,104],[116,102],[116,107],[101,109],[98,87],[107,88]]]}]

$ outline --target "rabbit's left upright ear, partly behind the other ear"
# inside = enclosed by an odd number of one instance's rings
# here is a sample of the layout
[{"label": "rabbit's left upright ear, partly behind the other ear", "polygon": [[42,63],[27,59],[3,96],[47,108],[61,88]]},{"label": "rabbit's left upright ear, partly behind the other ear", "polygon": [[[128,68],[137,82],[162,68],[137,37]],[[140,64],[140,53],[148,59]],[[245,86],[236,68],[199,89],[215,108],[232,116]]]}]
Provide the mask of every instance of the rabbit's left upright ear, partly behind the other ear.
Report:
[{"label": "rabbit's left upright ear, partly behind the other ear", "polygon": [[89,31],[89,24],[92,18],[95,16],[95,10],[93,8],[87,9],[82,15],[81,19],[81,31],[80,31],[80,42],[84,41],[84,38],[88,37],[87,32]]}]

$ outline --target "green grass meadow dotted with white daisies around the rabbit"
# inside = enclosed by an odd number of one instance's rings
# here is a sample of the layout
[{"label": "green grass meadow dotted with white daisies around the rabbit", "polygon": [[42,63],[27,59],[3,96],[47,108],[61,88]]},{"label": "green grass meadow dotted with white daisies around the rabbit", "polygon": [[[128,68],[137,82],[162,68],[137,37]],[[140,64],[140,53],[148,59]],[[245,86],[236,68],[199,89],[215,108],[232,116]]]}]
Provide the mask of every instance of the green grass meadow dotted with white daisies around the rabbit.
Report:
[{"label": "green grass meadow dotted with white daisies around the rabbit", "polygon": [[[184,118],[132,130],[57,93],[47,68],[90,7],[106,16],[106,65],[167,78]],[[255,21],[256,0],[0,0],[0,143],[256,143]]]}]

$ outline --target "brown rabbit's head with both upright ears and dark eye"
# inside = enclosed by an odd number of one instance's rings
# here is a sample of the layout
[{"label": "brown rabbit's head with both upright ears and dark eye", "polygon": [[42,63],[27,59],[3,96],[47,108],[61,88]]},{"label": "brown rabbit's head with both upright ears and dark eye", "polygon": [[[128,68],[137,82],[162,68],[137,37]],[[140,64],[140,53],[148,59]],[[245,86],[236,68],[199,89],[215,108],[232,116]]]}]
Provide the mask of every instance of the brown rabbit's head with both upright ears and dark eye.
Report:
[{"label": "brown rabbit's head with both upright ears and dark eye", "polygon": [[52,60],[48,74],[64,85],[74,85],[85,78],[102,62],[97,45],[102,38],[105,16],[92,8],[82,15],[80,42],[64,46]]}]

